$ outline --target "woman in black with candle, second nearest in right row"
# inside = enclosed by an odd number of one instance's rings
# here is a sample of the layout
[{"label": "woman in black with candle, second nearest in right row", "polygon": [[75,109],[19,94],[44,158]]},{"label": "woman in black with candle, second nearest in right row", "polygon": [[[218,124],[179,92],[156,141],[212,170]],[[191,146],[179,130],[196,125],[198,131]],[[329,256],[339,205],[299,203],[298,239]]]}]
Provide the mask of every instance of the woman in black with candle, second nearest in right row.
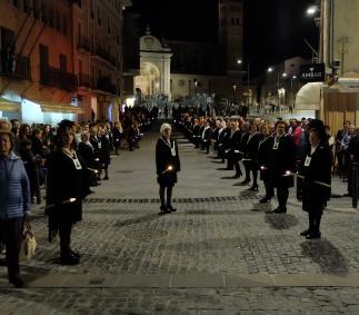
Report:
[{"label": "woman in black with candle, second nearest in right row", "polygon": [[296,170],[296,147],[290,135],[286,135],[287,124],[283,120],[276,122],[276,136],[271,150],[271,176],[273,187],[277,188],[279,206],[269,213],[287,213],[289,187],[293,187],[293,171]]}]

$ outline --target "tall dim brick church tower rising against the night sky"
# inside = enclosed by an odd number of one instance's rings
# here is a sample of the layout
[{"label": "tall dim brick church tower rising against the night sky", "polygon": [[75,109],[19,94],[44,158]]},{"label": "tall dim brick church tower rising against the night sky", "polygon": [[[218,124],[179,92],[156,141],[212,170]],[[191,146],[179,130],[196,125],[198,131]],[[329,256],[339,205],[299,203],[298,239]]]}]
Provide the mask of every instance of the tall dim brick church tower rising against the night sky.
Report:
[{"label": "tall dim brick church tower rising against the night sky", "polygon": [[219,1],[219,45],[222,69],[228,75],[237,75],[238,59],[243,53],[243,0]]}]

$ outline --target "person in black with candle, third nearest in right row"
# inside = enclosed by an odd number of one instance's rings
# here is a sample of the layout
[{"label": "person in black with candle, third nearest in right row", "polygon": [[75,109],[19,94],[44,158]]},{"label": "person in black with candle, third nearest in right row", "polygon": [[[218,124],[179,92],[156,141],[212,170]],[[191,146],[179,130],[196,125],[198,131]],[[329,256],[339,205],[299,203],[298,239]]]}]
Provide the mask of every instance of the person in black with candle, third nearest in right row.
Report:
[{"label": "person in black with candle, third nearest in right row", "polygon": [[260,171],[260,179],[263,180],[266,187],[266,196],[259,203],[268,203],[275,196],[275,189],[271,179],[271,150],[273,147],[275,138],[270,135],[268,124],[260,127],[262,139],[258,146],[258,167]]}]

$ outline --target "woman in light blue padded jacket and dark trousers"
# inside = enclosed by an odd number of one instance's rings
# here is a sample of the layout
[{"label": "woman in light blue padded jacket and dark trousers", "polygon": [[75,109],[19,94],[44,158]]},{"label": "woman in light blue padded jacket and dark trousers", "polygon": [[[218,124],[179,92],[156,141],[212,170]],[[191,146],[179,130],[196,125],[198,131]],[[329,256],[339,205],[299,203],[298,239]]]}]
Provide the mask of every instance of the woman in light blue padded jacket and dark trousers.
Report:
[{"label": "woman in light blue padded jacket and dark trousers", "polygon": [[0,239],[7,249],[9,283],[23,287],[20,278],[19,253],[23,223],[30,214],[30,184],[23,163],[13,152],[14,139],[10,125],[0,126]]}]

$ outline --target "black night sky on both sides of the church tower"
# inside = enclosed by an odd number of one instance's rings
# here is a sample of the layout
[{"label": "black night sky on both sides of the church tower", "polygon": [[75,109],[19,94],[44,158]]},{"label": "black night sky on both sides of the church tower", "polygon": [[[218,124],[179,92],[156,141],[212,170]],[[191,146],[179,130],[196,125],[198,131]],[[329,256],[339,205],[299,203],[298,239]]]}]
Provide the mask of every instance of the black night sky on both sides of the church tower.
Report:
[{"label": "black night sky on both sides of the church tower", "polygon": [[[245,59],[252,75],[285,58],[310,58],[306,38],[318,46],[319,31],[306,9],[313,0],[245,0]],[[151,26],[158,37],[216,41],[218,0],[132,0],[141,14],[142,33]]]}]

